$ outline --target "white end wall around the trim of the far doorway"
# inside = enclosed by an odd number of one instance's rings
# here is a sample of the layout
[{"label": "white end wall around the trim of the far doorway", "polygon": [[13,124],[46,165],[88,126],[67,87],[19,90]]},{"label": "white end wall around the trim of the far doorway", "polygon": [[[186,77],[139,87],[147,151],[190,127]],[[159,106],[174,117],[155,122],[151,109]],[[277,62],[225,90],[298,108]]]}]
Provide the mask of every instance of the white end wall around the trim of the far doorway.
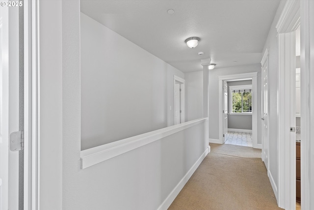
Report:
[{"label": "white end wall around the trim of the far doorway", "polygon": [[[262,57],[261,57],[262,60]],[[219,76],[241,74],[248,72],[258,72],[257,74],[257,119],[261,119],[261,64],[254,65],[243,65],[243,66],[233,66],[228,68],[215,68],[209,70],[209,138],[219,139],[219,103],[218,103],[218,83]],[[258,120],[257,123],[257,143],[262,144],[261,139],[261,121]]]}]

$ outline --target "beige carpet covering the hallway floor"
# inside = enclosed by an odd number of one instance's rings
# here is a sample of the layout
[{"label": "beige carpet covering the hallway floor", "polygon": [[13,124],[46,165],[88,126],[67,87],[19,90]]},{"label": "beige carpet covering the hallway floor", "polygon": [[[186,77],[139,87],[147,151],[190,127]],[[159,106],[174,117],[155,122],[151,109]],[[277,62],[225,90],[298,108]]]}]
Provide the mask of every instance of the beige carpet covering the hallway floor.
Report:
[{"label": "beige carpet covering the hallway floor", "polygon": [[210,147],[211,152],[168,210],[281,210],[260,158],[261,150],[235,145]]}]

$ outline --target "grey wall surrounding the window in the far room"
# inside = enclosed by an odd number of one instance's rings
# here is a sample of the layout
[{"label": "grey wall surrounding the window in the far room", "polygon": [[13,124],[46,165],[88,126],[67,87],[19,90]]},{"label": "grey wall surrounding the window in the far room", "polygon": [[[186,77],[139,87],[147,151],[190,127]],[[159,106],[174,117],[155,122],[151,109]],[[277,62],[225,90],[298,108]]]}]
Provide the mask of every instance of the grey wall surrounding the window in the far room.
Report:
[{"label": "grey wall surrounding the window in the far room", "polygon": [[[229,86],[252,85],[252,80],[228,82],[228,113],[231,113]],[[228,115],[228,128],[252,130],[252,115]]]}]

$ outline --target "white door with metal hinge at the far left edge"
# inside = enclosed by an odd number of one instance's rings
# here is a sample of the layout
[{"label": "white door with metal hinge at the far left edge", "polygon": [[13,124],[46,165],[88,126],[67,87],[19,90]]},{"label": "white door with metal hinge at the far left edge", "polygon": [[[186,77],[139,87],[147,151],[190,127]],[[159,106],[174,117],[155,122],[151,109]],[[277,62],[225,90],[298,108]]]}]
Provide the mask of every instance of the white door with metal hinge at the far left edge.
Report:
[{"label": "white door with metal hinge at the far left edge", "polygon": [[[0,210],[23,209],[23,154],[11,147],[10,134],[19,136],[19,7],[0,7]],[[23,89],[23,88],[22,88]],[[20,116],[21,115],[21,116]],[[21,120],[23,121],[23,120]],[[21,136],[21,135],[20,135]],[[14,150],[15,149],[15,150]],[[20,184],[20,185],[19,185]],[[19,188],[21,190],[19,191]],[[19,194],[20,192],[20,194]]]}]

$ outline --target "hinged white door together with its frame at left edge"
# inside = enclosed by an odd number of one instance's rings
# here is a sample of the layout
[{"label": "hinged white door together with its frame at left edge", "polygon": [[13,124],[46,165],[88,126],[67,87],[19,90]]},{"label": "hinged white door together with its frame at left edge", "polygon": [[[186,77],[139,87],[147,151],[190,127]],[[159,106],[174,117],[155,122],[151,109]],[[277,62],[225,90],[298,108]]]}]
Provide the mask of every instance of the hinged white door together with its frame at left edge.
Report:
[{"label": "hinged white door together with its frame at left edge", "polygon": [[21,3],[0,7],[1,210],[38,205],[39,10]]}]

